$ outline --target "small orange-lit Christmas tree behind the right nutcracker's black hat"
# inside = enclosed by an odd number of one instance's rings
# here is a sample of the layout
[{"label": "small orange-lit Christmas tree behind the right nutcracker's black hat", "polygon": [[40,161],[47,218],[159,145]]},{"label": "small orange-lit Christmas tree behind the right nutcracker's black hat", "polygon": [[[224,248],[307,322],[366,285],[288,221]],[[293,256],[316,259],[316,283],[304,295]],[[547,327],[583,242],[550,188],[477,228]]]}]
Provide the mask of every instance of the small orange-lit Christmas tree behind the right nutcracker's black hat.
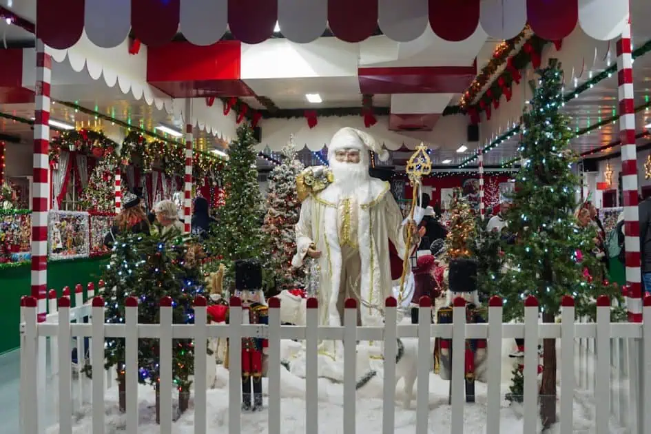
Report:
[{"label": "small orange-lit Christmas tree behind the right nutcracker's black hat", "polygon": [[455,190],[453,194],[449,228],[445,239],[448,260],[470,258],[475,241],[475,216],[471,205],[462,198],[461,189]]}]

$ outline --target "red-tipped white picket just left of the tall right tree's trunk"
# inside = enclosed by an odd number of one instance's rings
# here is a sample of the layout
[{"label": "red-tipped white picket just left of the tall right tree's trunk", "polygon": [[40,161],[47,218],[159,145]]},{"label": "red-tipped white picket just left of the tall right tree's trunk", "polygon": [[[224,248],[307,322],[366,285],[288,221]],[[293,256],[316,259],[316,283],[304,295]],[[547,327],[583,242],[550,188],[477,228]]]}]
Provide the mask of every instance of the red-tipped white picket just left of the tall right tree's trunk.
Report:
[{"label": "red-tipped white picket just left of the tall right tree's trunk", "polygon": [[524,300],[524,433],[535,433],[538,426],[538,300]]}]

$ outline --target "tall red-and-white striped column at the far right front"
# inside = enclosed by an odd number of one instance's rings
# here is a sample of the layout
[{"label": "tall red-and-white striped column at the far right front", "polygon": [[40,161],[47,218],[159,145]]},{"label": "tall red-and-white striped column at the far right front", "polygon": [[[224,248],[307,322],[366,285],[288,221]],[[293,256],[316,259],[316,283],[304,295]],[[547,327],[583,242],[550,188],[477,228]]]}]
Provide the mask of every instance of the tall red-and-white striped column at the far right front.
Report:
[{"label": "tall red-and-white striped column at the far right front", "polygon": [[637,150],[635,148],[635,112],[633,101],[633,59],[630,18],[617,41],[619,81],[619,138],[621,140],[621,183],[626,236],[626,308],[630,322],[642,322],[642,284],[640,271],[640,225],[637,210]]}]

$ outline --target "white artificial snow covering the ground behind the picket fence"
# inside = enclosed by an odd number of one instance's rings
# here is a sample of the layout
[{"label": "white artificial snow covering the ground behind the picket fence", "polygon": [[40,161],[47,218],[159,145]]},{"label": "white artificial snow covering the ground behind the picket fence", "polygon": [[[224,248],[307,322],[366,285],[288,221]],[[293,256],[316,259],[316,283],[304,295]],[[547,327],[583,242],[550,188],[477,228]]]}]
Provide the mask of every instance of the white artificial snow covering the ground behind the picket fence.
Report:
[{"label": "white artificial snow covering the ground behind the picket fence", "polygon": [[[282,433],[299,434],[305,432],[305,400],[304,380],[281,369],[281,413]],[[266,379],[264,381],[265,394],[268,392]],[[158,433],[160,427],[156,425],[154,391],[149,386],[138,386],[138,399],[140,401],[140,429],[141,434]],[[402,409],[402,387],[397,388],[397,402],[395,406],[395,433],[413,434],[415,431],[416,413],[415,403],[411,410]],[[506,393],[508,382],[503,384]],[[504,396],[504,393],[502,394]],[[371,380],[371,383],[358,391],[357,401],[357,427],[358,433],[382,432],[382,378]],[[378,398],[380,397],[380,398]],[[226,432],[228,426],[228,371],[218,366],[216,389],[207,393],[208,432]],[[117,390],[111,389],[106,394],[106,434],[125,432],[125,415],[118,412]],[[343,389],[341,384],[326,379],[319,380],[319,433],[342,433],[342,403]],[[265,404],[266,404],[265,399]],[[174,422],[174,433],[194,433],[193,402],[190,409]],[[448,382],[440,379],[438,375],[430,375],[429,399],[429,431],[430,433],[449,433],[451,424],[451,407],[448,405]],[[521,408],[517,405],[509,406],[502,402],[501,429],[502,433],[522,433]],[[579,391],[575,392],[574,405],[575,424],[574,432],[577,434],[595,433],[595,403],[591,396]],[[466,404],[464,415],[465,434],[483,434],[486,432],[486,384],[477,383],[477,402]],[[91,409],[87,406],[77,414],[74,422],[74,433],[85,434],[92,431]],[[552,429],[550,434],[558,431]],[[627,431],[616,428],[611,424],[610,433],[625,434]],[[59,433],[58,426],[52,426],[48,434]],[[267,433],[267,411],[260,413],[245,413],[242,415],[242,433]],[[524,434],[524,433],[523,433]],[[530,434],[530,433],[527,433]]]}]

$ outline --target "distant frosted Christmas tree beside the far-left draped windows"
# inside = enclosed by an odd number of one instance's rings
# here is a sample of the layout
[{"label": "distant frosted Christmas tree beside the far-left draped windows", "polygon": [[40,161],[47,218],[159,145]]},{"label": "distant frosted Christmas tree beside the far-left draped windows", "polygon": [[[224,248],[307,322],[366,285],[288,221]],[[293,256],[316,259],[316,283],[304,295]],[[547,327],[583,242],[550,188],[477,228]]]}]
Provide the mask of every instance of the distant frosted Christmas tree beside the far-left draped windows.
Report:
[{"label": "distant frosted Christmas tree beside the far-left draped windows", "polygon": [[[122,186],[122,196],[125,189]],[[115,212],[115,165],[101,159],[88,178],[79,205],[84,211]]]}]

